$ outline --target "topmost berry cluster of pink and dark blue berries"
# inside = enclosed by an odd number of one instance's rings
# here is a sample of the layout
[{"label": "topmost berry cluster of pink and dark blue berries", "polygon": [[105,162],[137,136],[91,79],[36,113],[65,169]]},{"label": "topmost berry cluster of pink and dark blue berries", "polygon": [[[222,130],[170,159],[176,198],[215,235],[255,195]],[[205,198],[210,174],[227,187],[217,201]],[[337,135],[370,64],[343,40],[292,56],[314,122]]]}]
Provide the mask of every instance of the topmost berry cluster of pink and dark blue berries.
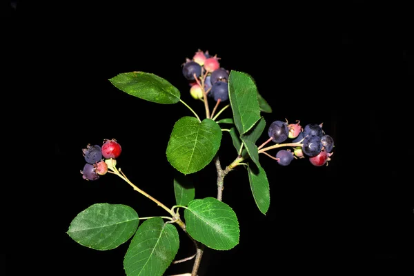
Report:
[{"label": "topmost berry cluster of pink and dark blue berries", "polygon": [[193,59],[186,59],[183,75],[190,85],[190,95],[203,99],[206,91],[215,101],[228,100],[228,70],[220,66],[219,57],[198,50]]}]

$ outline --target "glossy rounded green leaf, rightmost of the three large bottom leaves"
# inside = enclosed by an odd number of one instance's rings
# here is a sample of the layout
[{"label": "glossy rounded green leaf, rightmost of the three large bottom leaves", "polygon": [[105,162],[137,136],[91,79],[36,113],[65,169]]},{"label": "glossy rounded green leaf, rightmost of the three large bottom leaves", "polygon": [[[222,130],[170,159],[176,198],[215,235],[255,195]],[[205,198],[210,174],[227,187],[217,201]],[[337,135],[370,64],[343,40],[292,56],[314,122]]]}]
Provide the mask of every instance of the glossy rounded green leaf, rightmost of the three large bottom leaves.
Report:
[{"label": "glossy rounded green leaf, rightmost of the three large bottom leaves", "polygon": [[228,250],[239,243],[239,221],[230,206],[214,197],[195,199],[184,210],[188,234],[216,250]]}]

